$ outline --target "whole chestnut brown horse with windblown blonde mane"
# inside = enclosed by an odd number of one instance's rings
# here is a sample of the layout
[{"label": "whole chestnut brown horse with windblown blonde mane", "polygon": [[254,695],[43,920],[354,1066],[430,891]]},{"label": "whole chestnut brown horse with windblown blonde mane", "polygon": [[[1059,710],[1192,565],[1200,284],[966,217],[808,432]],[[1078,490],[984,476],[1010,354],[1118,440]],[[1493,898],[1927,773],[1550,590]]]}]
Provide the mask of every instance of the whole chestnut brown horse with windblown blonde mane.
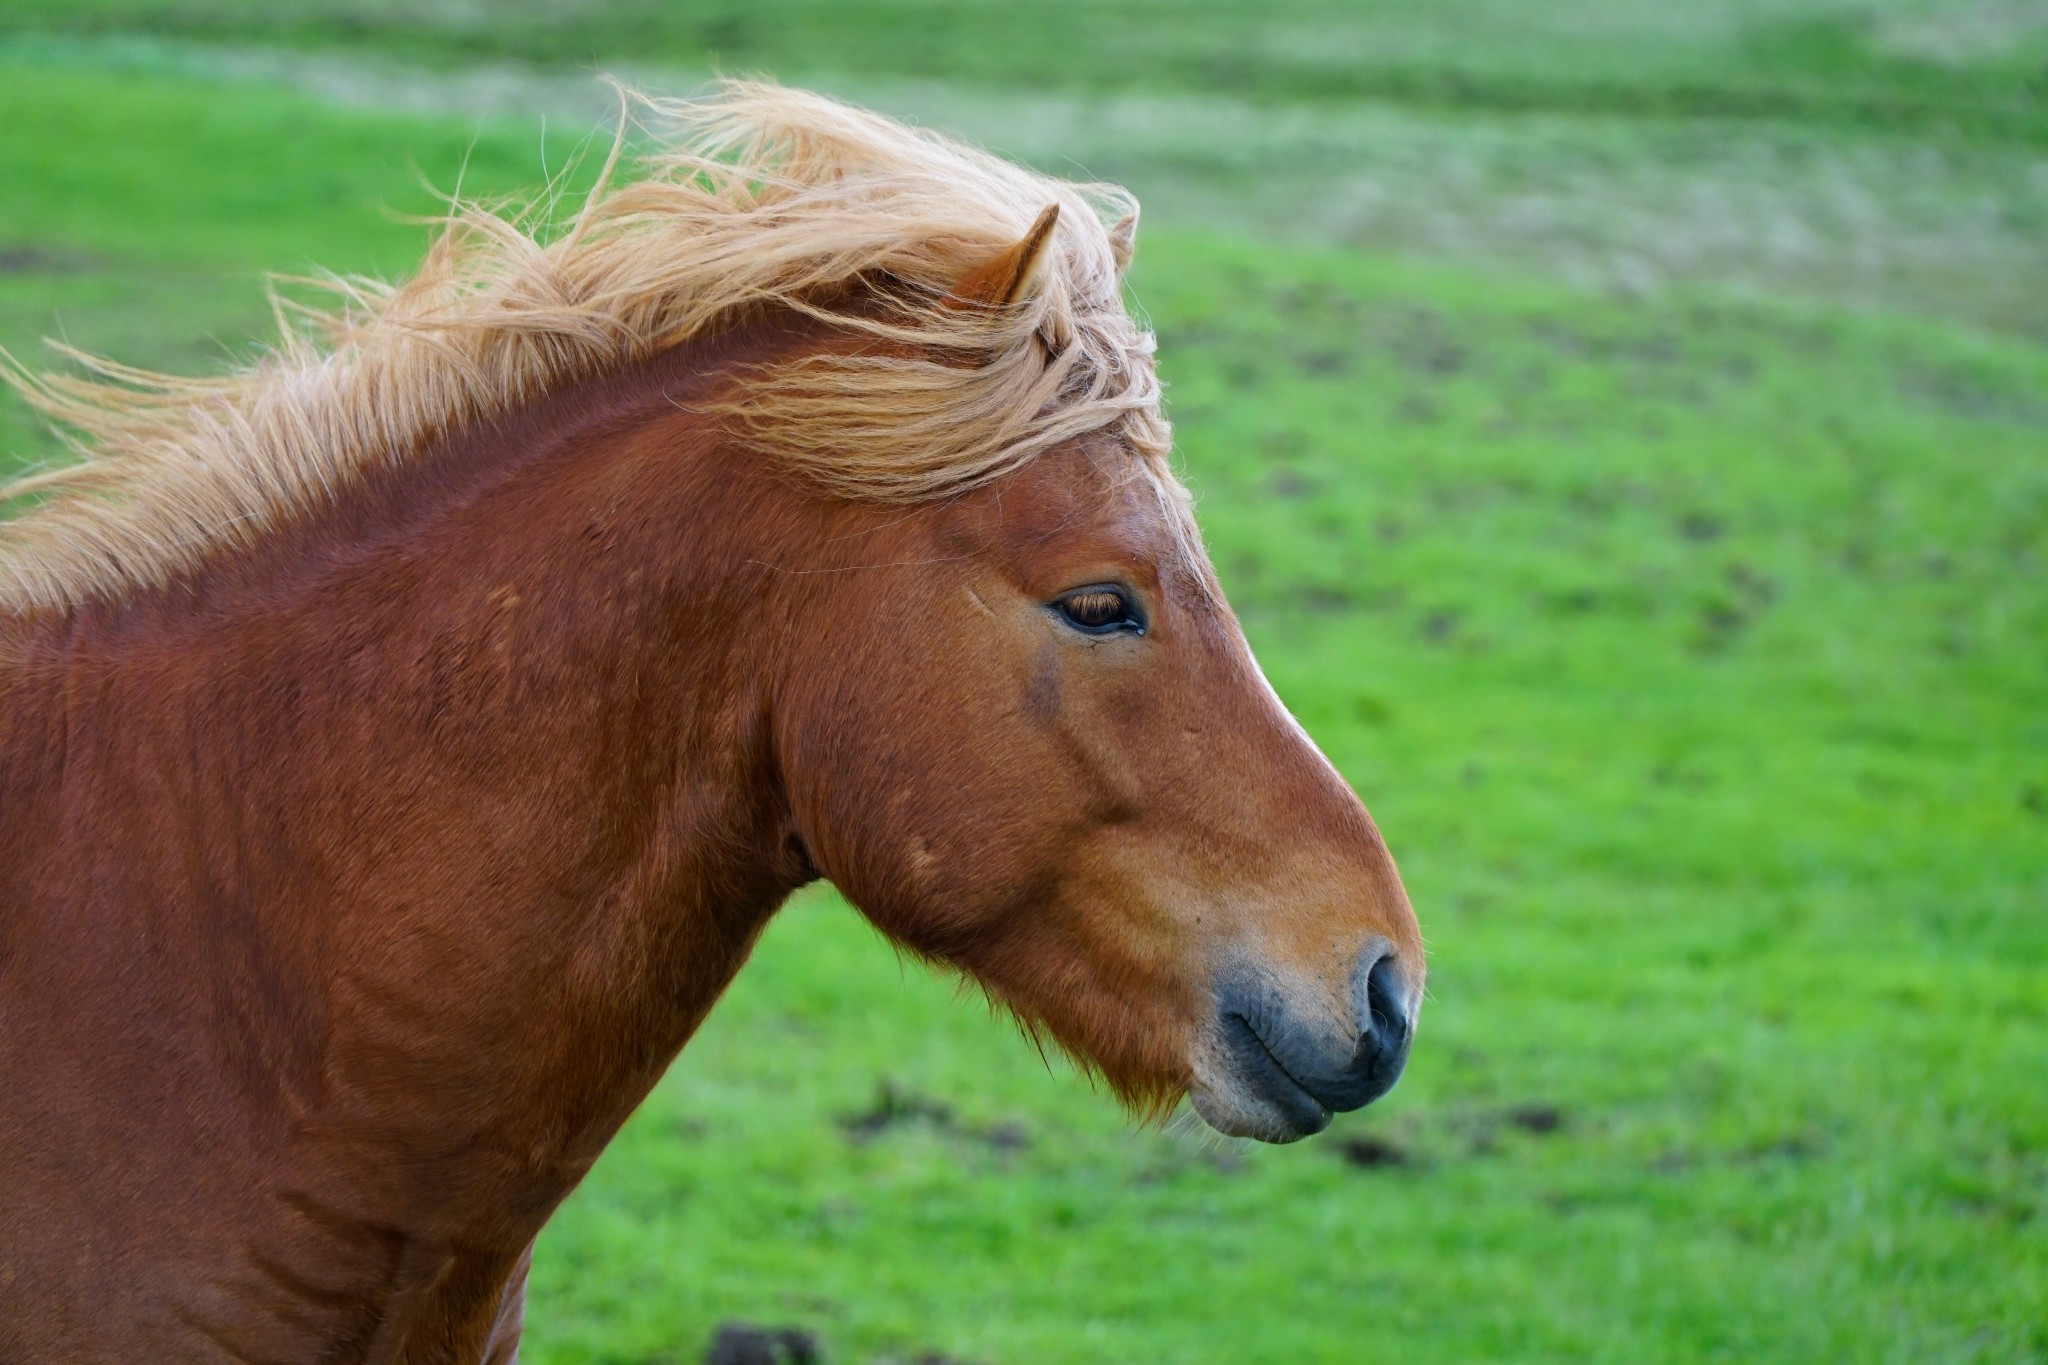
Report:
[{"label": "whole chestnut brown horse with windblown blonde mane", "polygon": [[[1399,1074],[1415,919],[1171,479],[1133,205],[827,100],[262,364],[23,377],[0,1359],[506,1361],[535,1234],[829,878],[1141,1111]],[[616,160],[616,153],[614,153]]]}]

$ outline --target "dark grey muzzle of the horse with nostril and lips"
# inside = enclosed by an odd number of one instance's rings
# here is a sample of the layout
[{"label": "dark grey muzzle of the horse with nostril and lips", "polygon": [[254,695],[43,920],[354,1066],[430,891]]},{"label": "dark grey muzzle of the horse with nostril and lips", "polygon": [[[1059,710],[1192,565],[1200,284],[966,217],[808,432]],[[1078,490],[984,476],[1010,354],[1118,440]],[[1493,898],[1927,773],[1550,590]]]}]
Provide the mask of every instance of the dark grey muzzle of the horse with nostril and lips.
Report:
[{"label": "dark grey muzzle of the horse with nostril and lips", "polygon": [[1331,1113],[1360,1109],[1401,1078],[1415,1031],[1415,1003],[1401,962],[1370,943],[1352,970],[1352,1019],[1290,1007],[1270,978],[1239,972],[1217,988],[1208,1058],[1223,1076],[1202,1076],[1196,1111],[1221,1132],[1294,1142],[1329,1128]]}]

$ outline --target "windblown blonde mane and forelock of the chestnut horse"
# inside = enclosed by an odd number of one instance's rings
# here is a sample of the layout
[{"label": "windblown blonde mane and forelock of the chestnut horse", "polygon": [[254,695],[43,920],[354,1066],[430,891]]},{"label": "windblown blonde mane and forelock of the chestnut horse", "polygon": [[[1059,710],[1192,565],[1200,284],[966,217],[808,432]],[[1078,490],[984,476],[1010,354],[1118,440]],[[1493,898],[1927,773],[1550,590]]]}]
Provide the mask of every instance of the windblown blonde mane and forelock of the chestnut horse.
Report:
[{"label": "windblown blonde mane and forelock of the chestnut horse", "polygon": [[[0,377],[82,460],[0,487],[0,612],[162,585],[246,546],[444,432],[616,370],[762,307],[879,342],[748,377],[721,405],[745,444],[856,499],[920,501],[1110,428],[1163,473],[1153,340],[1118,276],[1137,203],[834,100],[727,82],[700,100],[625,94],[657,131],[645,174],[598,184],[553,231],[451,205],[403,284],[272,289],[279,342],[219,379],[59,348],[84,375]],[[1061,207],[1032,291],[940,307],[967,272]],[[848,287],[874,282],[864,301]],[[877,299],[883,303],[877,307]]]}]

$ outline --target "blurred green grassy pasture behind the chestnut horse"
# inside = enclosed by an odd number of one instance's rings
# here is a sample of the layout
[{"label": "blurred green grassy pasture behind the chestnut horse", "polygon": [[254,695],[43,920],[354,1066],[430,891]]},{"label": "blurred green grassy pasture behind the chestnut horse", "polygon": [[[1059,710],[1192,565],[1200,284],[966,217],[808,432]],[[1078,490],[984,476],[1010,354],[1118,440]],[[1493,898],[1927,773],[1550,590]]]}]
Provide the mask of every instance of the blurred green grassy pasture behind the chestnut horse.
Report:
[{"label": "blurred green grassy pasture behind the chestnut horse", "polygon": [[8,0],[0,344],[246,358],[264,270],[573,194],[596,72],[1139,192],[1223,583],[1434,968],[1386,1101],[1251,1148],[807,892],[526,1359],[2048,1361],[2048,2]]}]

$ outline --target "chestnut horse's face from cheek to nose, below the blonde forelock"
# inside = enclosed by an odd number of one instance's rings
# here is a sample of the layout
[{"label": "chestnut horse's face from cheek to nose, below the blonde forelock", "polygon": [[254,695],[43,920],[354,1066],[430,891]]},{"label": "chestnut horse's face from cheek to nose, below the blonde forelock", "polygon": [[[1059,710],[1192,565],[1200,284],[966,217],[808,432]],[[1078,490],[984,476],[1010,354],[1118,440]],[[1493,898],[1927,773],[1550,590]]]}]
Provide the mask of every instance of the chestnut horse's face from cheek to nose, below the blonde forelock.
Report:
[{"label": "chestnut horse's face from cheek to nose, below the blonde forelock", "polygon": [[[1106,438],[793,579],[817,866],[1145,1107],[1286,1142],[1380,1095],[1423,960],[1386,845],[1274,696],[1176,487]],[[1378,982],[1378,988],[1374,988]]]}]

